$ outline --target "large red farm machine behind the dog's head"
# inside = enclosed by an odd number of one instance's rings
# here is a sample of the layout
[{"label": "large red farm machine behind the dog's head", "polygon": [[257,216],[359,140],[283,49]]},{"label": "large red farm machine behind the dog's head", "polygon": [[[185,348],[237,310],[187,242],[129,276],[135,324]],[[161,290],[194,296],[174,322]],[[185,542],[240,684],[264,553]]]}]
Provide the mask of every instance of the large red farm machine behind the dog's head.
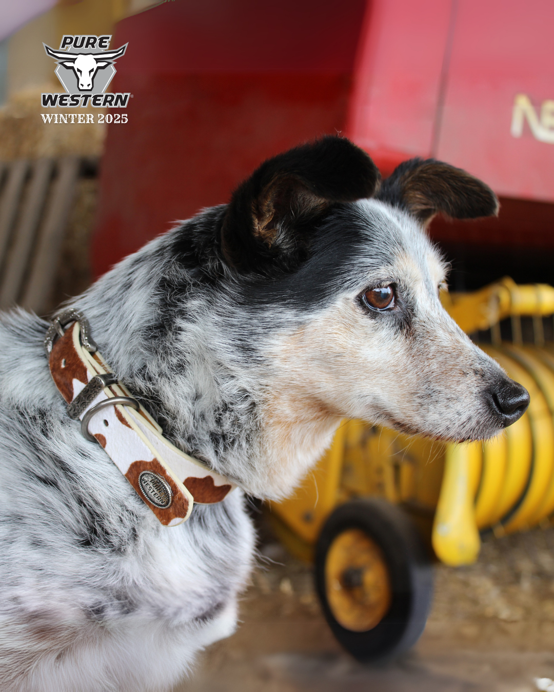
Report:
[{"label": "large red farm machine behind the dog's head", "polygon": [[499,221],[431,228],[472,264],[467,287],[553,283],[553,22],[548,0],[176,0],[121,21],[112,86],[133,98],[109,125],[96,273],[267,156],[339,131],[384,174],[436,156],[502,196]]}]

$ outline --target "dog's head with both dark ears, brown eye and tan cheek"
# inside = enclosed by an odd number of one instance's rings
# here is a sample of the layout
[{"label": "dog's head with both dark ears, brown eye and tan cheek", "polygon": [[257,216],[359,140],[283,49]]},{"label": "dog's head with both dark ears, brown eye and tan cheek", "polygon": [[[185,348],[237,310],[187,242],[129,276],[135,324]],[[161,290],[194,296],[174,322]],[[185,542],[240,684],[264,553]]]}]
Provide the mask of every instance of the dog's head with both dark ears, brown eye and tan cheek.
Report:
[{"label": "dog's head with both dark ears, brown eye and tan cheek", "polygon": [[346,416],[462,441],[517,420],[528,394],[443,309],[445,263],[425,232],[437,212],[474,219],[498,206],[440,161],[407,161],[380,184],[338,137],[280,154],[240,185],[221,247],[253,333],[265,334],[267,435],[288,448],[295,421],[315,440]]}]

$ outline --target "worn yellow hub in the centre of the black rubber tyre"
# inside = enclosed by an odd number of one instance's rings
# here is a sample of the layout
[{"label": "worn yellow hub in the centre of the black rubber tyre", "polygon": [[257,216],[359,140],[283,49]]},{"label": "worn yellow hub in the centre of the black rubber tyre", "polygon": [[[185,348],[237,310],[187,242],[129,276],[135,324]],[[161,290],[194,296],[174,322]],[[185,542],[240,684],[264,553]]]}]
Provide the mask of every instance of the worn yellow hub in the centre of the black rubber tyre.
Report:
[{"label": "worn yellow hub in the centre of the black rubber tyre", "polygon": [[325,561],[325,591],[334,618],[352,632],[373,629],[391,607],[382,550],[361,529],[348,529],[333,540]]}]

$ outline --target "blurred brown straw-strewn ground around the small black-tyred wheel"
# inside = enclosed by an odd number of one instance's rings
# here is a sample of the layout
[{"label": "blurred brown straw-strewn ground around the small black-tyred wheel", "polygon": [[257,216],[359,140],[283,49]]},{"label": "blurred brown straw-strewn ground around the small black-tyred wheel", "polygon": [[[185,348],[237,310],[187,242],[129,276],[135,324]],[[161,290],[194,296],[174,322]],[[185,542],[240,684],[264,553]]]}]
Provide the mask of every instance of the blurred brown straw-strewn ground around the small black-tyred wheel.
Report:
[{"label": "blurred brown straw-strewn ground around the small black-tyred wheel", "polygon": [[261,552],[238,631],[175,692],[531,692],[554,678],[554,529],[490,536],[476,565],[438,565],[420,641],[380,666],[334,641],[310,567],[271,539]]}]

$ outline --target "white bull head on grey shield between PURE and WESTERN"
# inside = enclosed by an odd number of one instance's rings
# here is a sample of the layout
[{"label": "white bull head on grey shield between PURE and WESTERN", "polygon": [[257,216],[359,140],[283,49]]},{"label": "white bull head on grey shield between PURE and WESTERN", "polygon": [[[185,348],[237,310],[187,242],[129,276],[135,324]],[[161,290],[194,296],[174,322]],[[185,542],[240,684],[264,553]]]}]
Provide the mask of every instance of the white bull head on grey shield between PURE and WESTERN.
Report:
[{"label": "white bull head on grey shield between PURE and WESTERN", "polygon": [[[46,44],[43,44],[43,46],[46,54],[57,61],[58,66],[55,73],[67,93],[82,93],[84,91],[88,93],[104,93],[116,73],[113,66],[114,62],[118,57],[124,55],[127,49],[127,44],[125,44],[125,46],[121,46],[116,51],[66,53],[66,51],[54,51]],[[105,73],[106,68],[111,69]],[[96,75],[100,70],[102,71],[102,78],[96,80],[95,84]]]}]

